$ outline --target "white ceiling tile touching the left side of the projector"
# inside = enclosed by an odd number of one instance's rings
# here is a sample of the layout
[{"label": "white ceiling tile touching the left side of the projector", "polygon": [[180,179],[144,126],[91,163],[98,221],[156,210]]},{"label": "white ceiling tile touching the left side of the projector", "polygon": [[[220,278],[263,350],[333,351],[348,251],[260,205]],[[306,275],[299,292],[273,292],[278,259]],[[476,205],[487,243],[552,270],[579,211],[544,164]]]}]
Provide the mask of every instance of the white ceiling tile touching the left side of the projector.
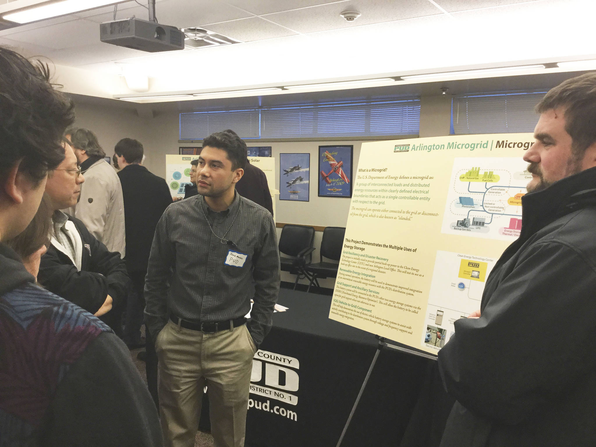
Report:
[{"label": "white ceiling tile touching the left side of the projector", "polygon": [[52,49],[70,48],[99,42],[100,27],[95,22],[79,19],[13,33],[9,38]]}]

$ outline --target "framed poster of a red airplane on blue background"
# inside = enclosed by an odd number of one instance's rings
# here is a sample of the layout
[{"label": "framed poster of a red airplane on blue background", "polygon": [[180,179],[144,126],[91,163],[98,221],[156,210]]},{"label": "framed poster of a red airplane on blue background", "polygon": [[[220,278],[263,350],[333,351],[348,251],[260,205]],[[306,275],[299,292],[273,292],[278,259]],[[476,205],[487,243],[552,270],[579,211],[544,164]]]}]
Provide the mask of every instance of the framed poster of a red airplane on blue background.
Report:
[{"label": "framed poster of a red airplane on blue background", "polygon": [[319,146],[319,197],[352,197],[354,147]]}]

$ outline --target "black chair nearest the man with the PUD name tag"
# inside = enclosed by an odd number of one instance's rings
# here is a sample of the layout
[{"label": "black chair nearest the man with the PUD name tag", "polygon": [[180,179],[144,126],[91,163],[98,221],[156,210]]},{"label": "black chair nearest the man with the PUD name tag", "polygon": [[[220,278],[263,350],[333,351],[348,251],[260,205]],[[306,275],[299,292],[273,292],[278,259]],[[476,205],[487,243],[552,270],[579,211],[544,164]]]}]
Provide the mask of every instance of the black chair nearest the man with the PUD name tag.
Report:
[{"label": "black chair nearest the man with the PUD name tag", "polygon": [[[284,225],[281,229],[280,243],[280,264],[284,272],[296,275],[294,290],[298,280],[310,277],[306,274],[305,266],[312,262],[312,252],[315,251],[312,244],[315,241],[315,229],[305,225]],[[285,254],[287,256],[281,256]]]}]

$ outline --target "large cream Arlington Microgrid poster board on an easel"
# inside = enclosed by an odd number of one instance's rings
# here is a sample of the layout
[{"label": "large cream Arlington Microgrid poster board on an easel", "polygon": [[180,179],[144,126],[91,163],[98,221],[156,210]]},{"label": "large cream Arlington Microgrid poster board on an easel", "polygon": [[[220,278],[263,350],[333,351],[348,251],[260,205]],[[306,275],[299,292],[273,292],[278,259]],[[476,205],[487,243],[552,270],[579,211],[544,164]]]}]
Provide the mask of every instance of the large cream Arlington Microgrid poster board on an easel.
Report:
[{"label": "large cream Arlington Microgrid poster board on an easel", "polygon": [[532,134],[362,144],[329,318],[436,354],[520,234]]}]

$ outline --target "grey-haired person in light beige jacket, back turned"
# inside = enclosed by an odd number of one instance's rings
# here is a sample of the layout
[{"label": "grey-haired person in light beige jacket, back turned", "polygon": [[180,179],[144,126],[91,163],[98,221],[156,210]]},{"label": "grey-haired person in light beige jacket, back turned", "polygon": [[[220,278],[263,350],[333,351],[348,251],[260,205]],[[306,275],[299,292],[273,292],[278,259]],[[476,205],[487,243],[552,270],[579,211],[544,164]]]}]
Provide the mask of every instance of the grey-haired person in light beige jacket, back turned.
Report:
[{"label": "grey-haired person in light beige jacket, back turned", "polygon": [[66,138],[75,150],[85,185],[69,214],[79,219],[110,252],[126,254],[124,203],[120,179],[105,163],[105,151],[89,129],[70,128]]}]

